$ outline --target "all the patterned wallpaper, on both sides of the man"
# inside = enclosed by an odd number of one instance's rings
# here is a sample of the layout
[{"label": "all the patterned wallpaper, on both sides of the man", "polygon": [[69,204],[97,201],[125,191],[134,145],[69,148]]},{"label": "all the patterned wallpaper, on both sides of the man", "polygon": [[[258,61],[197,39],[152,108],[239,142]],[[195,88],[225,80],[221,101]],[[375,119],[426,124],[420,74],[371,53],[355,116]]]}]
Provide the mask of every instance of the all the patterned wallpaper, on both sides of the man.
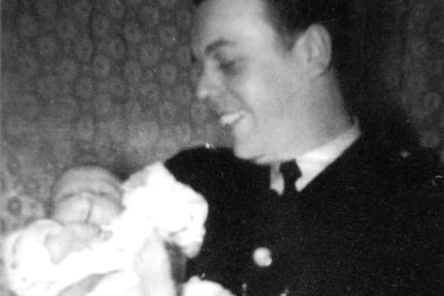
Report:
[{"label": "all the patterned wallpaper, on both sides of the man", "polygon": [[[384,85],[444,161],[444,1],[368,11],[353,2],[384,24],[366,40],[369,83]],[[0,234],[44,215],[66,166],[98,162],[125,175],[182,148],[227,143],[193,95],[190,12],[186,0],[1,1]]]}]

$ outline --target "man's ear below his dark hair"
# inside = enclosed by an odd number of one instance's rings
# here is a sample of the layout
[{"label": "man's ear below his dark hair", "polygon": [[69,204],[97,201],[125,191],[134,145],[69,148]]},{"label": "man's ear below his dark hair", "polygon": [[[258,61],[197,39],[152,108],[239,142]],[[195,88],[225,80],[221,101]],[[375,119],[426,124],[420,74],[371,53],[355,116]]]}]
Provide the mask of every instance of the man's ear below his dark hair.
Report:
[{"label": "man's ear below his dark hair", "polygon": [[324,26],[312,24],[300,35],[293,50],[298,51],[301,62],[310,76],[324,73],[332,61],[332,39]]}]

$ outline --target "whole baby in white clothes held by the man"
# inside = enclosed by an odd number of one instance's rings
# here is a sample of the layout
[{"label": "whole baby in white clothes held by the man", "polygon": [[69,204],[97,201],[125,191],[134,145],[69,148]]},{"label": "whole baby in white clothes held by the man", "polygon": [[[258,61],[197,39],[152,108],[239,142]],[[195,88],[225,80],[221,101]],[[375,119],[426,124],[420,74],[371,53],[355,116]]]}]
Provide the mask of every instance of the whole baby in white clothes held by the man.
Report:
[{"label": "whole baby in white clothes held by the man", "polygon": [[103,168],[73,168],[52,200],[51,219],[6,239],[6,277],[19,296],[172,296],[164,243],[192,257],[205,235],[205,200],[162,164],[123,186]]}]

